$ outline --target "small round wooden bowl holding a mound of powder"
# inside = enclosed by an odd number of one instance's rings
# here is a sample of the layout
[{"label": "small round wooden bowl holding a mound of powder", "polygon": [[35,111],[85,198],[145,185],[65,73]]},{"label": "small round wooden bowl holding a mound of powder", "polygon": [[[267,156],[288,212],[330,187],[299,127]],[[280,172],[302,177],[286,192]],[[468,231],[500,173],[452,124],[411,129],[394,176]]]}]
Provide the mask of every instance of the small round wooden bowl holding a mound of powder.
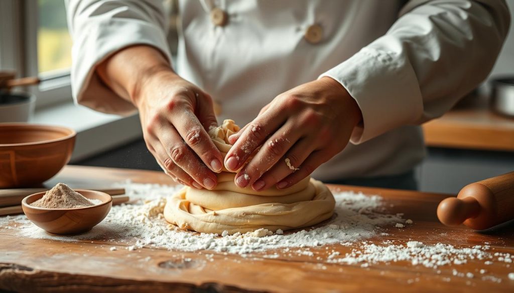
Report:
[{"label": "small round wooden bowl holding a mound of powder", "polygon": [[102,222],[113,205],[109,194],[95,190],[75,190],[83,197],[101,200],[102,203],[77,208],[42,208],[30,204],[41,199],[45,192],[31,194],[22,201],[25,216],[36,226],[54,234],[78,234],[89,231]]}]

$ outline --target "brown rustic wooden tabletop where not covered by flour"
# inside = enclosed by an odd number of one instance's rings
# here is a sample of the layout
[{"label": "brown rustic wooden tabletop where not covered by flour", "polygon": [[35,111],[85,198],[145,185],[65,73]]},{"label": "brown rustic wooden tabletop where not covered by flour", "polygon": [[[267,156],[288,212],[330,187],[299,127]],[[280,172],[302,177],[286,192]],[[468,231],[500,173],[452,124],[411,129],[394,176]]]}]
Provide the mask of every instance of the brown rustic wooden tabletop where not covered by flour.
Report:
[{"label": "brown rustic wooden tabletop where not covered by flour", "polygon": [[[140,183],[173,184],[166,175],[155,171],[66,166],[46,185],[65,182],[72,187],[108,186],[131,179]],[[370,239],[380,244],[384,240],[424,243],[446,243],[470,247],[490,243],[490,252],[514,255],[513,225],[488,233],[470,231],[464,227],[449,228],[437,221],[435,209],[443,194],[376,188],[340,186],[341,190],[379,194],[394,207],[388,212],[405,213],[413,225],[406,229],[390,229],[387,237]],[[331,245],[313,248],[316,256],[281,256],[264,258],[255,253],[252,258],[223,255],[214,252],[214,261],[206,262],[198,252],[169,251],[142,248],[136,251],[110,251],[108,241],[78,241],[63,243],[54,240],[20,238],[16,229],[0,227],[0,288],[23,292],[49,291],[313,291],[313,292],[514,292],[514,281],[507,275],[514,272],[502,262],[487,266],[488,275],[501,278],[500,283],[480,277],[453,276],[452,270],[474,271],[483,268],[484,261],[472,260],[458,266],[433,268],[413,266],[408,262],[374,264],[370,267],[325,263],[328,251],[341,255],[352,247]],[[120,246],[119,243],[115,245]],[[209,252],[212,253],[212,252]],[[269,253],[269,252],[268,252]],[[150,257],[150,261],[143,261]],[[184,261],[184,259],[191,261]],[[478,273],[477,273],[478,274]],[[476,274],[475,274],[476,275]]]}]

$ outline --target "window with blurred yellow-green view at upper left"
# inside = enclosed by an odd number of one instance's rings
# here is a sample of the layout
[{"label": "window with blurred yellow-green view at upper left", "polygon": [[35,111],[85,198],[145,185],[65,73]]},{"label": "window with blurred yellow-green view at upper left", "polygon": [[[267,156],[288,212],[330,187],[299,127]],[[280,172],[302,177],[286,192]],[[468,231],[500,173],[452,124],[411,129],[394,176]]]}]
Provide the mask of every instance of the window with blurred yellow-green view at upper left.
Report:
[{"label": "window with blurred yellow-green view at upper left", "polygon": [[36,108],[70,101],[71,38],[64,0],[0,1],[0,69],[39,76]]}]

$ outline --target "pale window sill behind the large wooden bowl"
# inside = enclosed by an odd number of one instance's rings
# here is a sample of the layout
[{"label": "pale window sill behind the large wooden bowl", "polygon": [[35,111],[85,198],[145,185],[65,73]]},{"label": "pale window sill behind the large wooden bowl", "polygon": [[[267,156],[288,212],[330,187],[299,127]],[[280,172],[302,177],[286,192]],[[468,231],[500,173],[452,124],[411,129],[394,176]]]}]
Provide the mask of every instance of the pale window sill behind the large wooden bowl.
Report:
[{"label": "pale window sill behind the large wooden bowl", "polygon": [[73,102],[35,110],[36,124],[60,125],[77,132],[70,163],[113,149],[142,137],[139,116],[119,116],[76,106]]}]

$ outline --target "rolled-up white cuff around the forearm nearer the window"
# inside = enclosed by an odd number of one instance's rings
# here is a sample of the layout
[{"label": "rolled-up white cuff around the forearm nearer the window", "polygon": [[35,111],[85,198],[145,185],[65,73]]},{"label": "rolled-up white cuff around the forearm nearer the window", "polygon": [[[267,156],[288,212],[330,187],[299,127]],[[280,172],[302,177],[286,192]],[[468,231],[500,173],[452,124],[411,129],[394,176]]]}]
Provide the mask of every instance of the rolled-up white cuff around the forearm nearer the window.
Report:
[{"label": "rolled-up white cuff around the forearm nearer the window", "polygon": [[75,102],[104,113],[131,114],[134,105],[107,87],[95,73],[98,64],[118,50],[132,45],[150,45],[171,64],[171,54],[162,28],[134,19],[94,22],[74,40],[71,85]]}]

